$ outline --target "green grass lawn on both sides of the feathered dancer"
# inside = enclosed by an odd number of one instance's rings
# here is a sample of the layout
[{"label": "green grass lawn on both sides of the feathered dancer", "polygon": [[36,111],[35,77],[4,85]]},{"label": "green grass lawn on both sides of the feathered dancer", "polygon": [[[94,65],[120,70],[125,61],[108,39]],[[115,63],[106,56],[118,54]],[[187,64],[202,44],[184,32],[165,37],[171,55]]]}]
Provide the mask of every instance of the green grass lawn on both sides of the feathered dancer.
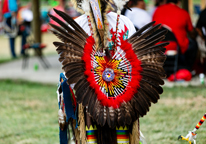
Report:
[{"label": "green grass lawn on both sides of the feathered dancer", "polygon": [[[0,81],[0,144],[56,144],[58,104],[55,85]],[[140,118],[148,144],[187,144],[186,136],[206,112],[206,89],[164,88],[157,104]],[[206,123],[197,131],[197,143],[206,142]]]}]

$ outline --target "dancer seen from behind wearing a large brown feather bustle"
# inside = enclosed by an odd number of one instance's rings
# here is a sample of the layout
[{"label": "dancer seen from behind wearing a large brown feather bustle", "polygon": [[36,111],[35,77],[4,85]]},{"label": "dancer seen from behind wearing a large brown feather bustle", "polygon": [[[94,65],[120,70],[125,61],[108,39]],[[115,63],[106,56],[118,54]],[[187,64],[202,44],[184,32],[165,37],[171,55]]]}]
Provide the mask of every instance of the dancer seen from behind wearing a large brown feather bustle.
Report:
[{"label": "dancer seen from behind wearing a large brown feather bustle", "polygon": [[57,92],[60,143],[67,143],[64,132],[71,125],[70,143],[138,144],[139,117],[163,92],[163,47],[168,43],[155,44],[166,31],[150,36],[161,26],[151,22],[135,32],[131,21],[120,15],[124,4],[78,1],[85,14],[76,22],[58,10],[66,23],[50,15],[61,26],[51,24],[51,31],[61,40],[54,45],[65,71]]}]

